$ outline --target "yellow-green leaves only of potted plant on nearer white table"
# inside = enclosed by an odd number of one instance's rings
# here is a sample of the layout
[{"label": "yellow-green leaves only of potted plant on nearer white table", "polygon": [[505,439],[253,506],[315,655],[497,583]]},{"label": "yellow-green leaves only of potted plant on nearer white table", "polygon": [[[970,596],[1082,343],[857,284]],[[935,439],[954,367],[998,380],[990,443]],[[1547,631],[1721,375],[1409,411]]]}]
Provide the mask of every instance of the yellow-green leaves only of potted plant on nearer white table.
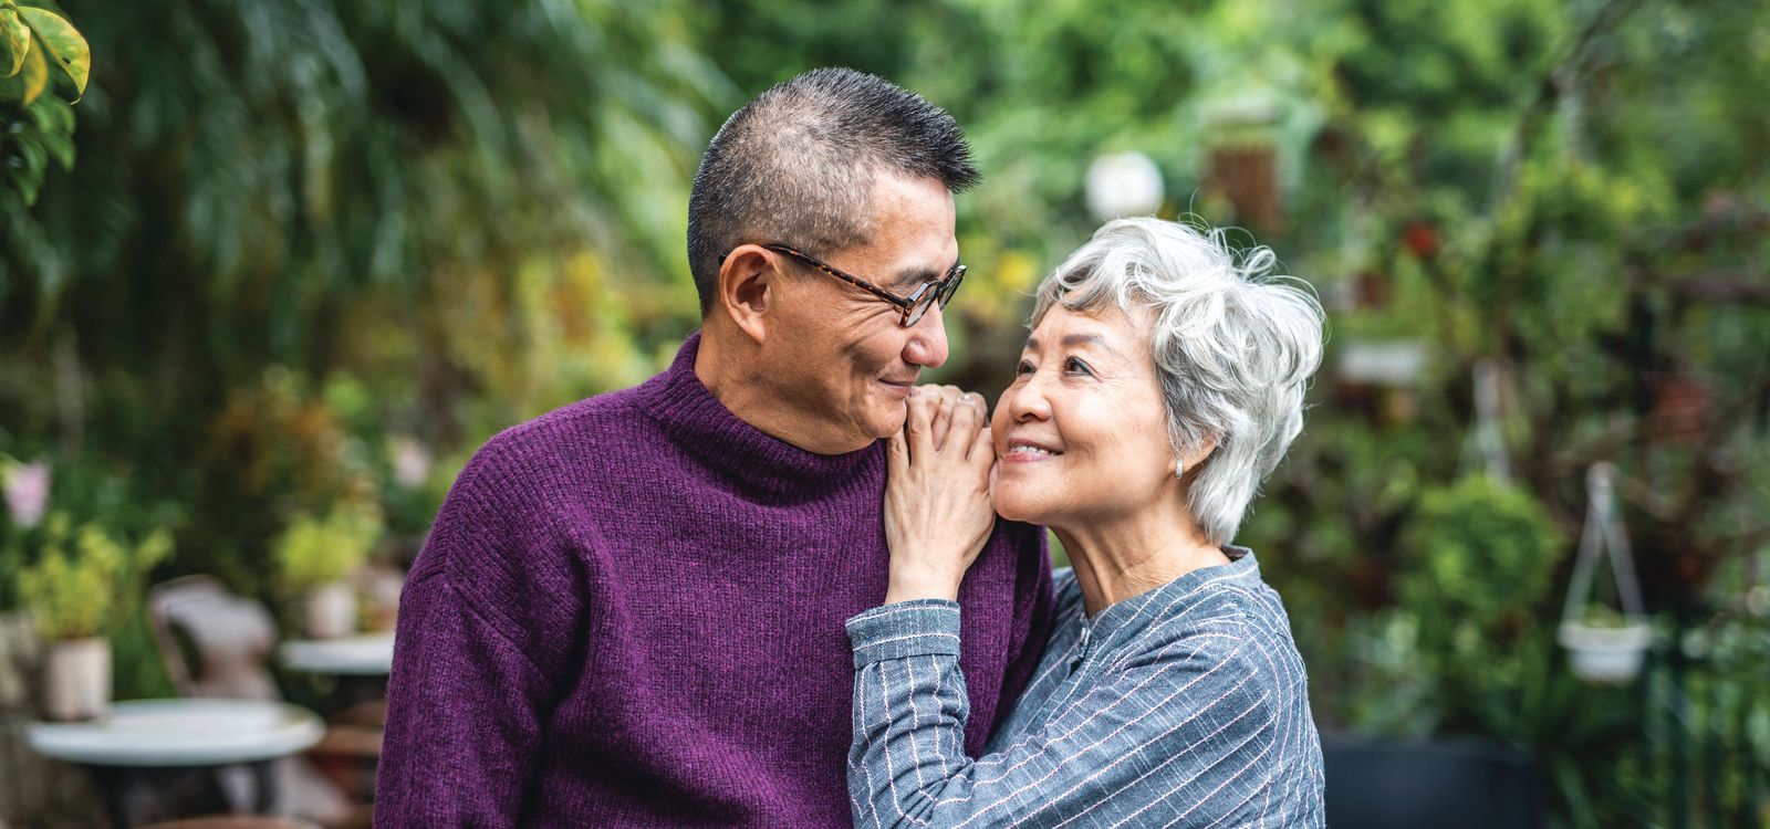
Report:
[{"label": "yellow-green leaves only of potted plant on nearer white table", "polygon": [[117,620],[117,596],[140,590],[140,576],[172,555],[165,530],[129,544],[97,523],[71,529],[65,514],[50,514],[44,527],[42,551],[19,571],[18,594],[51,640],[103,636]]}]

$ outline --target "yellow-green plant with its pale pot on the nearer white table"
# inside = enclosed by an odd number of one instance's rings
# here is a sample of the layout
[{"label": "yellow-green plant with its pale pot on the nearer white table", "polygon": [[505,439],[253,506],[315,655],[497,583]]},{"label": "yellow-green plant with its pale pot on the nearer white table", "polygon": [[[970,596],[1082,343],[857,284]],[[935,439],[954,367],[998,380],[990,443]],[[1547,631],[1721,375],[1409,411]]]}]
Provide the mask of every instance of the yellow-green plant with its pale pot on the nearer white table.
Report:
[{"label": "yellow-green plant with its pale pot on the nearer white table", "polygon": [[42,704],[50,719],[92,719],[110,709],[104,633],[120,606],[117,592],[170,553],[165,530],[131,548],[96,523],[69,532],[65,516],[50,516],[41,555],[18,574],[19,599],[48,642]]}]

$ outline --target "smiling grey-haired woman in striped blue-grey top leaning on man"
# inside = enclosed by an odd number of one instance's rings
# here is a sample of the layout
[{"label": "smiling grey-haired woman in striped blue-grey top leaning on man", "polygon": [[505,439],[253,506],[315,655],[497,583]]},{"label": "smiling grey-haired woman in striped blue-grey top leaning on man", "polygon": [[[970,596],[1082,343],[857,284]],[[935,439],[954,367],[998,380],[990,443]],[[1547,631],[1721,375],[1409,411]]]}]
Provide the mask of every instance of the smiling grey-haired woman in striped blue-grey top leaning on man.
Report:
[{"label": "smiling grey-haired woman in striped blue-grey top leaning on man", "polygon": [[[848,620],[857,825],[1324,824],[1290,622],[1228,544],[1320,364],[1320,306],[1271,263],[1237,263],[1221,233],[1113,221],[1039,286],[993,422],[910,398],[887,603]],[[954,597],[993,513],[1050,525],[1074,567],[1032,682],[974,760]]]}]

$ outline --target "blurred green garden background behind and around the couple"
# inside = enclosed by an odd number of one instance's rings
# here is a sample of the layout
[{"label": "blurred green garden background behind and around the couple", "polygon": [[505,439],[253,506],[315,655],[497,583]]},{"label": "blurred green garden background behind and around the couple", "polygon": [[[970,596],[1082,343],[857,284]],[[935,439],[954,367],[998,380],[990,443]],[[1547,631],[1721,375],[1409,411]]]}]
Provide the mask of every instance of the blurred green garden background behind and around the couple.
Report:
[{"label": "blurred green garden background behind and around the couple", "polygon": [[[1770,825],[1763,0],[18,7],[90,85],[0,81],[0,610],[108,640],[117,700],[181,693],[150,585],[304,636],[487,437],[664,368],[701,148],[851,65],[984,171],[933,380],[995,399],[1030,288],[1115,212],[1241,228],[1320,292],[1310,421],[1239,541],[1324,735],[1524,758],[1549,825]],[[1641,670],[1582,677],[1563,622],[1644,624],[1605,640]],[[0,822],[78,825],[0,668]]]}]

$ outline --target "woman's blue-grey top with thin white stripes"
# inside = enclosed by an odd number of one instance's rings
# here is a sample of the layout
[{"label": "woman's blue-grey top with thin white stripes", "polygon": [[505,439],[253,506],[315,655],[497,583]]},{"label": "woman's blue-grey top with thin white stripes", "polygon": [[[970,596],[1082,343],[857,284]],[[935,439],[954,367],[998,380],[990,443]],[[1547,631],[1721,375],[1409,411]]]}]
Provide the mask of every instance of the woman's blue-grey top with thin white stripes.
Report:
[{"label": "woman's blue-grey top with thin white stripes", "polygon": [[1246,548],[1087,619],[1057,571],[1057,626],[1020,704],[965,755],[959,606],[848,620],[855,825],[1320,827],[1303,658]]}]

